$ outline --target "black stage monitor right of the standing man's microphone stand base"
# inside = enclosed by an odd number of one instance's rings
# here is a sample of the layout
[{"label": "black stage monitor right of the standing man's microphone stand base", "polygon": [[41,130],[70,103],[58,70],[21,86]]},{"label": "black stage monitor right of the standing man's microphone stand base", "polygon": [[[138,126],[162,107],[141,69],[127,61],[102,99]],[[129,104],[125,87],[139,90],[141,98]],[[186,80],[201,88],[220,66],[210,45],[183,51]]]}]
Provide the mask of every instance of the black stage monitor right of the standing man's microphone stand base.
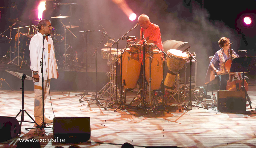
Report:
[{"label": "black stage monitor right of the standing man's microphone stand base", "polygon": [[53,118],[53,135],[56,142],[86,142],[91,138],[90,117]]}]

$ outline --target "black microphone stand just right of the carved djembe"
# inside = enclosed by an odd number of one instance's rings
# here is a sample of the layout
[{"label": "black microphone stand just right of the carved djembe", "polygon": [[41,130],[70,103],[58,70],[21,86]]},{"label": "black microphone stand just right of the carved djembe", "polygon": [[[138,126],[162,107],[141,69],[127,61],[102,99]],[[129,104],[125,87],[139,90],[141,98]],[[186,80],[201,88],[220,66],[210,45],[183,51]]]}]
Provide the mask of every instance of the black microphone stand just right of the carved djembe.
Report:
[{"label": "black microphone stand just right of the carved djembe", "polygon": [[[190,46],[189,46],[190,47]],[[189,48],[188,47],[188,48]],[[197,61],[192,55],[191,55],[191,53],[188,51],[188,48],[186,49],[186,50],[184,50],[183,52],[185,52],[185,51],[187,51],[187,53],[189,54],[189,60],[190,60],[190,71],[189,71],[189,101],[188,101],[188,105],[186,105],[186,101],[184,101],[184,108],[182,108],[182,109],[180,109],[179,110],[179,112],[180,111],[182,111],[182,110],[184,110],[185,108],[188,108],[188,107],[192,107],[192,106],[194,106],[194,107],[200,107],[200,108],[204,108],[204,109],[207,109],[208,110],[208,108],[206,108],[206,107],[202,107],[202,106],[196,106],[196,105],[193,105],[192,104],[192,102],[191,102],[191,72],[192,72],[192,58],[195,60],[195,62]],[[185,82],[186,83],[186,82]]]}]

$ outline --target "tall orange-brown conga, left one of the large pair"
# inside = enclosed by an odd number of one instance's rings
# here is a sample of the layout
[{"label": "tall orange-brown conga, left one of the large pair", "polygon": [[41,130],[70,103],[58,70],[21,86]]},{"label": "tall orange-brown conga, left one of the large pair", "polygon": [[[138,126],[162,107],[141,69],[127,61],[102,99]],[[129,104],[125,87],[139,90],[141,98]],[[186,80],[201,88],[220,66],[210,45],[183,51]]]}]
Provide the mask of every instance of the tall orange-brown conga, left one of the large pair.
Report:
[{"label": "tall orange-brown conga, left one of the large pair", "polygon": [[[133,46],[134,47],[134,46]],[[122,82],[125,81],[124,88],[136,88],[141,71],[140,53],[134,53],[127,48],[122,57]],[[136,48],[138,51],[138,48]]]}]

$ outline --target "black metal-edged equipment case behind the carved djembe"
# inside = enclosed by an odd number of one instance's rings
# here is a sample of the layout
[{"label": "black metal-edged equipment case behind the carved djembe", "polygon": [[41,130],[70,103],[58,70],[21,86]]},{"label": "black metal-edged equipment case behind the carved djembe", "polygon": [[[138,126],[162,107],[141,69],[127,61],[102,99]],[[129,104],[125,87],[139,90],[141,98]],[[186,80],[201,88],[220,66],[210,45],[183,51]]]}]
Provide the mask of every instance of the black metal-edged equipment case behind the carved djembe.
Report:
[{"label": "black metal-edged equipment case behind the carved djembe", "polygon": [[[189,87],[189,73],[190,73],[190,60],[186,63],[186,85]],[[180,70],[180,84],[184,84],[185,80],[185,66]],[[191,66],[191,89],[196,90],[196,62],[195,60],[192,60],[192,66]]]}]

